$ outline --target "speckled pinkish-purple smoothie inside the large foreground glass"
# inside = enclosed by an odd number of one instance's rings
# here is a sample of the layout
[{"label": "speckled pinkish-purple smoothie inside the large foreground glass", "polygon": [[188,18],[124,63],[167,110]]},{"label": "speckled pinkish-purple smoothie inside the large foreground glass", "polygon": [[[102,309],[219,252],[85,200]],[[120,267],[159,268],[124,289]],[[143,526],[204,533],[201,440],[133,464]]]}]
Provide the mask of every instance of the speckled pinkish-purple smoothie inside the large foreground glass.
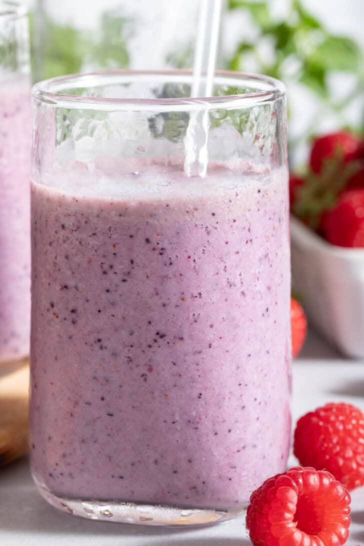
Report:
[{"label": "speckled pinkish-purple smoothie inside the large foreground glass", "polygon": [[91,178],[32,183],[34,477],[243,505],[289,449],[287,174]]}]

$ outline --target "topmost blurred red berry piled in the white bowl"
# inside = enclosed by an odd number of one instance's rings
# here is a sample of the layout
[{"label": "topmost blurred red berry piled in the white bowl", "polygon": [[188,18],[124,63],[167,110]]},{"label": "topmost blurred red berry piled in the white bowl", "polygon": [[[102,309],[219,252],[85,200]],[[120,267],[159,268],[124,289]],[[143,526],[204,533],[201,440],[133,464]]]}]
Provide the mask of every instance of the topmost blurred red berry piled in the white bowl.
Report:
[{"label": "topmost blurred red berry piled in the white bowl", "polygon": [[360,140],[348,131],[339,131],[317,138],[312,146],[309,164],[314,173],[320,173],[327,160],[348,163],[357,157]]}]

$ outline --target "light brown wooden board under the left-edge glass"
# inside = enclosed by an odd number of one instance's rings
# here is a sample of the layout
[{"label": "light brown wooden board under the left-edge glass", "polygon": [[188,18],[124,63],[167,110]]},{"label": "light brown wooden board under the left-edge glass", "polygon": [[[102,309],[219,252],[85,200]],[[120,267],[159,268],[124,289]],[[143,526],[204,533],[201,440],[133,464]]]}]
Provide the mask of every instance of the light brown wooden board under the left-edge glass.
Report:
[{"label": "light brown wooden board under the left-edge glass", "polygon": [[28,402],[29,362],[24,361],[0,376],[0,466],[28,451]]}]

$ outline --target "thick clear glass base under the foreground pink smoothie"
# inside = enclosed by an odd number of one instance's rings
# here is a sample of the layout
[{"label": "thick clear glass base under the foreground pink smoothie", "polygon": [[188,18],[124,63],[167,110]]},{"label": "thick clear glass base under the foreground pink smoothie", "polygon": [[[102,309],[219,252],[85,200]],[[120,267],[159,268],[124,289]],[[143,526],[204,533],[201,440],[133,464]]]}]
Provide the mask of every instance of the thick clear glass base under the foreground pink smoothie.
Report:
[{"label": "thick clear glass base under the foreground pink smoothie", "polygon": [[81,518],[115,523],[156,526],[211,525],[235,518],[245,507],[214,510],[212,508],[178,508],[168,505],[147,505],[135,502],[97,501],[54,495],[37,484],[41,496],[63,512]]}]

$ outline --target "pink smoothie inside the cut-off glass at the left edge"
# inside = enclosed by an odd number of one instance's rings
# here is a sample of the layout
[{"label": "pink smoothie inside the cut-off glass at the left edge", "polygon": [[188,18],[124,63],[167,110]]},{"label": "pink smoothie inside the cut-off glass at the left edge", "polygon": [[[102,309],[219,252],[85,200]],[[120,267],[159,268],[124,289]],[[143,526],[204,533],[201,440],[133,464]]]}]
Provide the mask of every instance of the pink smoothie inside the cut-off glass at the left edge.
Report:
[{"label": "pink smoothie inside the cut-off glass at the left edge", "polygon": [[0,361],[29,354],[30,145],[29,85],[0,86]]}]

